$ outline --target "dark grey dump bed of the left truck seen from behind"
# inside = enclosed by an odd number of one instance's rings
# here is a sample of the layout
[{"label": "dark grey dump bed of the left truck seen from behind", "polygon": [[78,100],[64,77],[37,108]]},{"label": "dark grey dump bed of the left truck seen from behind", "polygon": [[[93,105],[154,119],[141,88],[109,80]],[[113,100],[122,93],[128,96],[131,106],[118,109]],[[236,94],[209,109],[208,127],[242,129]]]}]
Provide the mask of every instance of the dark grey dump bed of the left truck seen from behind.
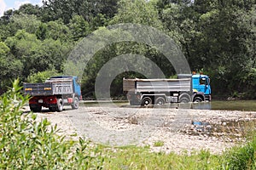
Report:
[{"label": "dark grey dump bed of the left truck seen from behind", "polygon": [[32,96],[73,94],[71,78],[49,79],[41,83],[24,83],[24,93]]}]

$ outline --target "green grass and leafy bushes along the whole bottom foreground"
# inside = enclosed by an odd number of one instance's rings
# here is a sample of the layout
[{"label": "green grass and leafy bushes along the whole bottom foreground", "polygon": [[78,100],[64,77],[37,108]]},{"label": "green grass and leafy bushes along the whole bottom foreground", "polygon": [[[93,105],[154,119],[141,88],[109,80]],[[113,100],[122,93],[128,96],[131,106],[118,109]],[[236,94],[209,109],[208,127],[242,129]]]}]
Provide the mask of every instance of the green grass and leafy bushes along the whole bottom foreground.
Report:
[{"label": "green grass and leafy bushes along the whole bottom foreground", "polygon": [[111,148],[66,139],[46,119],[36,122],[33,113],[22,113],[28,98],[18,84],[0,98],[1,169],[256,169],[254,135],[222,155],[207,150],[151,153],[148,147]]}]

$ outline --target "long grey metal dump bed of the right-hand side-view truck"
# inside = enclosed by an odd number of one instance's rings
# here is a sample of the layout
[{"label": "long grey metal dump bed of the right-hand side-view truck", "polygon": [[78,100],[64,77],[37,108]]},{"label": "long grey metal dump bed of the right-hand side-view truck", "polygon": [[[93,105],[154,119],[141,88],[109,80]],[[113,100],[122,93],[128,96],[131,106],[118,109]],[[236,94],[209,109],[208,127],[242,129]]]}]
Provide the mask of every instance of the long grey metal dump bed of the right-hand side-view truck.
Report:
[{"label": "long grey metal dump bed of the right-hand side-view truck", "polygon": [[123,91],[134,92],[189,92],[191,78],[182,79],[124,79]]}]

